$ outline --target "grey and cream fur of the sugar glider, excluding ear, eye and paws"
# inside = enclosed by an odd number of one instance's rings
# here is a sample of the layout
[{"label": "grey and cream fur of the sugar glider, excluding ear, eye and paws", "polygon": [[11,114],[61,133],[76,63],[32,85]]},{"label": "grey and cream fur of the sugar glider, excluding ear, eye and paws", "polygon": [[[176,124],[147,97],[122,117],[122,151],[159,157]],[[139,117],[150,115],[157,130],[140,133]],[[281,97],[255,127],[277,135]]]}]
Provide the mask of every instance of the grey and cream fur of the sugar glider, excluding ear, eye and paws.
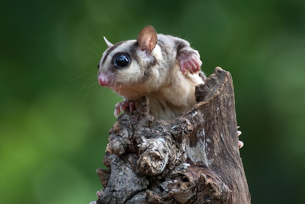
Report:
[{"label": "grey and cream fur of the sugar glider, excluding ear, eye and paws", "polygon": [[[202,72],[183,75],[180,71],[178,56],[196,55],[199,58],[188,41],[162,34],[157,38],[151,53],[140,50],[136,40],[109,47],[100,61],[98,75],[109,80],[107,86],[125,100],[149,97],[155,120],[172,120],[196,103],[195,85],[204,83],[205,76]],[[127,67],[115,66],[114,59],[120,54],[129,57],[131,62]]]}]

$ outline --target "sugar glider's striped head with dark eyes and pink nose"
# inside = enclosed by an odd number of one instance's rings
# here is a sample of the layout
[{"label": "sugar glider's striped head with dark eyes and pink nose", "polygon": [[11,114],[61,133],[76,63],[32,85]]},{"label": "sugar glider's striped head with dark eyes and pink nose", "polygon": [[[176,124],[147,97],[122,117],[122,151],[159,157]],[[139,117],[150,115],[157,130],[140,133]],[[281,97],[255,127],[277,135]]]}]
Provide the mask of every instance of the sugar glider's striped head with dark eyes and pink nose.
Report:
[{"label": "sugar glider's striped head with dark eyes and pink nose", "polygon": [[116,44],[112,44],[105,37],[104,40],[108,49],[97,64],[98,82],[120,95],[124,87],[141,85],[157,65],[158,56],[161,56],[157,33],[151,25],[140,31],[137,40]]}]

